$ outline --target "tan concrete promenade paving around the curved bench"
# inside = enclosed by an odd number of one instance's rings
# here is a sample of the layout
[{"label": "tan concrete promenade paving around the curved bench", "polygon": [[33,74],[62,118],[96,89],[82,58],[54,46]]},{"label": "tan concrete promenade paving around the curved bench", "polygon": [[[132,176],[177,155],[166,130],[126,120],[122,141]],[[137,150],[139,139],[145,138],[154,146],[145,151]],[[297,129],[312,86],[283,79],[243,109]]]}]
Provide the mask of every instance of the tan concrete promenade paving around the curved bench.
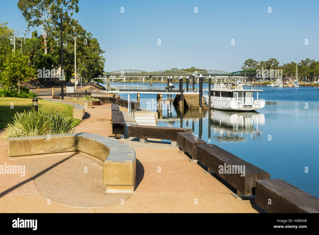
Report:
[{"label": "tan concrete promenade paving around the curved bench", "polygon": [[[127,109],[120,109],[126,119]],[[114,137],[110,104],[85,112],[75,132]],[[254,200],[235,199],[231,195],[234,191],[215,176],[205,174],[178,147],[160,142],[142,144],[134,138],[124,141],[136,152],[134,193],[105,193],[101,163],[85,154],[12,161],[8,159],[6,140],[2,139],[0,165],[24,165],[27,172],[25,176],[0,175],[0,212],[260,212]]]}]

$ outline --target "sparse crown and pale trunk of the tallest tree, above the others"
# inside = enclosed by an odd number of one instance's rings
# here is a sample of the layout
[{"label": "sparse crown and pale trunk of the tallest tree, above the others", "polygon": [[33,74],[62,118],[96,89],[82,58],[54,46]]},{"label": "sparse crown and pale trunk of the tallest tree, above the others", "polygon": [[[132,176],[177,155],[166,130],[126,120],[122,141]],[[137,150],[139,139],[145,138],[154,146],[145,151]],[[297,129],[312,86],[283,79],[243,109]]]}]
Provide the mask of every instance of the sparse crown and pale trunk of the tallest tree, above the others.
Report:
[{"label": "sparse crown and pale trunk of the tallest tree, above the others", "polygon": [[[47,54],[48,37],[59,23],[59,15],[73,15],[78,12],[78,0],[19,0],[18,8],[30,27],[41,27],[44,40],[44,54]],[[70,11],[70,12],[69,12]]]}]

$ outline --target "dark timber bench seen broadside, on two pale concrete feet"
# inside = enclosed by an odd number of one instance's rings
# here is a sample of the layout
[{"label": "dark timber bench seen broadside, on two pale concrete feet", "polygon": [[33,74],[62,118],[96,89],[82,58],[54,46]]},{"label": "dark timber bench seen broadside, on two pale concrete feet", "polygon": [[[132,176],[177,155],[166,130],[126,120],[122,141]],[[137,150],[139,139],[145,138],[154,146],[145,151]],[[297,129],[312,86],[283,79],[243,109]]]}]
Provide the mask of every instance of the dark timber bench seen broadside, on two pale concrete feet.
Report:
[{"label": "dark timber bench seen broadside, on two pale concrete feet", "polygon": [[172,146],[177,145],[177,133],[178,132],[191,132],[190,128],[178,128],[178,127],[157,127],[157,126],[142,126],[132,125],[127,127],[127,135],[129,137],[139,137],[140,142],[147,143],[147,138],[152,139],[167,139],[171,140]]}]

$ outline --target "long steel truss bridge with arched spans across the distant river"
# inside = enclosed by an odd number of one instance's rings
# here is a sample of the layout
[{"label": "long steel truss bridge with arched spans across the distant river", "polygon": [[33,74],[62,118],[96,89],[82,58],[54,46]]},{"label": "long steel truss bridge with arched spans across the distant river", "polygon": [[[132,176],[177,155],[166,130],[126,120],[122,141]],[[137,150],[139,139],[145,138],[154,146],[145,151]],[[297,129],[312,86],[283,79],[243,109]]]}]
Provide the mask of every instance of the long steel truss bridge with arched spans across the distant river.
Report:
[{"label": "long steel truss bridge with arched spans across the distant river", "polygon": [[187,77],[192,76],[194,74],[195,77],[198,77],[202,74],[203,77],[218,77],[218,76],[241,76],[241,77],[256,77],[255,70],[246,70],[246,71],[237,71],[237,72],[225,72],[219,70],[205,70],[205,71],[195,71],[194,73],[182,71],[182,70],[161,70],[155,72],[147,72],[143,70],[133,70],[133,69],[126,69],[126,70],[118,70],[113,72],[104,72],[103,77],[110,77],[115,76],[112,79],[117,79],[120,77]]}]

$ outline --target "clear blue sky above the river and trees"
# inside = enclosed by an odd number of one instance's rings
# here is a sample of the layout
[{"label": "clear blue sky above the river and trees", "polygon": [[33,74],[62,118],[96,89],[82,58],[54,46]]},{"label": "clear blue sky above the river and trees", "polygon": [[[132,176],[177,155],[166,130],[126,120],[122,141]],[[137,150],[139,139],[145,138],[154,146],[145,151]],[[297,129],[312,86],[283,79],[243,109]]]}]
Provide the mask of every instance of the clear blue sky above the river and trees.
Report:
[{"label": "clear blue sky above the river and trees", "polygon": [[[319,60],[318,9],[319,1],[79,0],[73,18],[106,51],[105,71],[195,66],[234,72],[249,58]],[[27,26],[17,0],[1,0],[0,20],[20,32]]]}]

